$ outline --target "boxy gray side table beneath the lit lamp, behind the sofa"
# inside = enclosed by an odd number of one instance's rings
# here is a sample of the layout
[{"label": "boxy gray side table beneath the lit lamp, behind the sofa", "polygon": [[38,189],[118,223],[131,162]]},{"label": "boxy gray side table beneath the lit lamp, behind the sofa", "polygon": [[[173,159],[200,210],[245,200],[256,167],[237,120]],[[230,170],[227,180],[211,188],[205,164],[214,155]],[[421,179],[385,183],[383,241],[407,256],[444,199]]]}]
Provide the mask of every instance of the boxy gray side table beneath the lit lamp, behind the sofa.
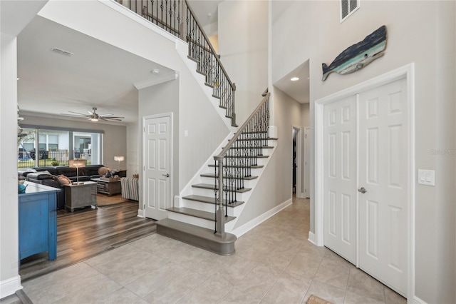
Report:
[{"label": "boxy gray side table beneath the lit lamp, behind the sofa", "polygon": [[65,185],[65,207],[71,209],[97,206],[97,183],[85,181],[78,185]]}]

